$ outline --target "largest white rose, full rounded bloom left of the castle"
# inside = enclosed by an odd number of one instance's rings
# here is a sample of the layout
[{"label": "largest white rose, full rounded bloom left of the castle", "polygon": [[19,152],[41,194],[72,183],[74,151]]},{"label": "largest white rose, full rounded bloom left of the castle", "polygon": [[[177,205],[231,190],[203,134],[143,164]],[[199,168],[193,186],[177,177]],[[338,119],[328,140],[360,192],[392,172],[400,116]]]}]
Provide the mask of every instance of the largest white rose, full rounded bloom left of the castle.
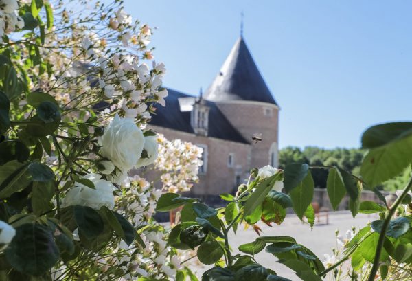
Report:
[{"label": "largest white rose, full rounded bloom left of the castle", "polygon": [[133,119],[115,115],[102,138],[102,155],[110,159],[120,170],[133,168],[141,157],[144,135]]}]

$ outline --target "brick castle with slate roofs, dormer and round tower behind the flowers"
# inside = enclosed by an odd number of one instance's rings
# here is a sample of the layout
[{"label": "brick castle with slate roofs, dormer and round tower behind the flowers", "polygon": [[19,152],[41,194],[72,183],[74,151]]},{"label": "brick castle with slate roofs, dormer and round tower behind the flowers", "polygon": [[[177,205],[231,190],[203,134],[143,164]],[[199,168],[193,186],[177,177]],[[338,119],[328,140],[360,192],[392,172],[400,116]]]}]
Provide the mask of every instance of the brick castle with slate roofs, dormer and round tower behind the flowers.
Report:
[{"label": "brick castle with slate roofs, dormer and round tower behind the flowers", "polygon": [[168,92],[166,106],[157,108],[149,126],[203,148],[192,196],[207,200],[231,193],[251,168],[277,167],[279,106],[242,36],[204,94]]}]

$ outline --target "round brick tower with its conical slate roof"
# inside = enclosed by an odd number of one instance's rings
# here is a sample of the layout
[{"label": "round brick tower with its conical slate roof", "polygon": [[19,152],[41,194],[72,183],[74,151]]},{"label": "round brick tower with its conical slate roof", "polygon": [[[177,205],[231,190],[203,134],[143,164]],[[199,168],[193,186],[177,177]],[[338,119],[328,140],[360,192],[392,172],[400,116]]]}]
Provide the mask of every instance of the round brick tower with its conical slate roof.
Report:
[{"label": "round brick tower with its conical slate roof", "polygon": [[249,168],[277,167],[279,106],[242,36],[205,93],[229,122],[251,142]]}]

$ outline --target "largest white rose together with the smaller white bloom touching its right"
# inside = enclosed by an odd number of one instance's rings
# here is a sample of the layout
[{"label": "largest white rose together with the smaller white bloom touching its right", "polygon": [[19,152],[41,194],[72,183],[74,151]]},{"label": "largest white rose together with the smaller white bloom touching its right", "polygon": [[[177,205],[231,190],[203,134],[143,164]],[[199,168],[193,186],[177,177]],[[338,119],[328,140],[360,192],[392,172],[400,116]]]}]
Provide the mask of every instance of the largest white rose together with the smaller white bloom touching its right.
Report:
[{"label": "largest white rose together with the smaller white bloom touching its right", "polygon": [[123,181],[128,170],[152,164],[158,153],[157,135],[145,137],[133,119],[119,115],[108,124],[100,145],[102,156],[110,160],[100,162],[104,166],[102,173],[111,174],[114,170],[111,164],[120,170],[109,177],[115,183]]}]

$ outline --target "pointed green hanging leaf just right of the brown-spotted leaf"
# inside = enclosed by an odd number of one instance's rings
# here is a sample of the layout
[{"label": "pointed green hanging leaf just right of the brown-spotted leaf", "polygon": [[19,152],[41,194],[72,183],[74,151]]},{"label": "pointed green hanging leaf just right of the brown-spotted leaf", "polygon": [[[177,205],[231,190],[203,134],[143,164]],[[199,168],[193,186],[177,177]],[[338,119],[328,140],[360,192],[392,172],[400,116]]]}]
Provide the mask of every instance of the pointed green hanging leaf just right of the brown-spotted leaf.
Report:
[{"label": "pointed green hanging leaf just right of the brown-spotted leaf", "polygon": [[290,192],[290,198],[293,202],[293,210],[297,216],[302,219],[306,209],[312,202],[314,194],[314,182],[310,172],[306,174],[303,181],[298,183],[298,186]]}]

